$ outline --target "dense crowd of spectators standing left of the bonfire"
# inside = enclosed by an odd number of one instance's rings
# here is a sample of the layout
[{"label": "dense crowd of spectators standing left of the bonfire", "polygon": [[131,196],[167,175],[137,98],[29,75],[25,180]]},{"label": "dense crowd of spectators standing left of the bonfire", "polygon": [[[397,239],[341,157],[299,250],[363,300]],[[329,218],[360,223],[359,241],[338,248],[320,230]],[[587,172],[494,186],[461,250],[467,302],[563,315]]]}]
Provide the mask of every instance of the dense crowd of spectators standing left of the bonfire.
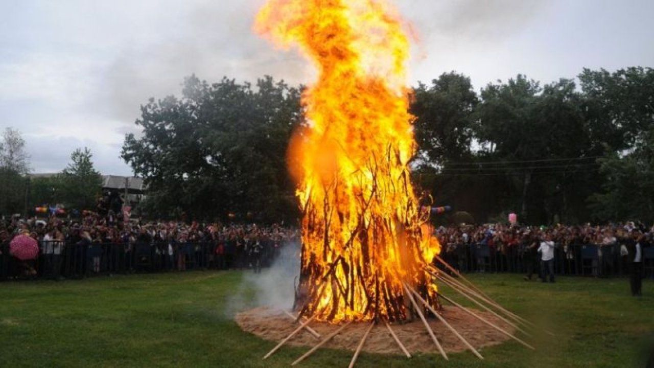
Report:
[{"label": "dense crowd of spectators standing left of the bonfire", "polygon": [[[120,219],[118,219],[120,220]],[[10,257],[19,235],[37,240],[39,257]],[[116,221],[86,212],[78,221],[12,219],[0,224],[0,278],[62,278],[186,268],[253,268],[260,272],[299,231],[281,225]]]}]

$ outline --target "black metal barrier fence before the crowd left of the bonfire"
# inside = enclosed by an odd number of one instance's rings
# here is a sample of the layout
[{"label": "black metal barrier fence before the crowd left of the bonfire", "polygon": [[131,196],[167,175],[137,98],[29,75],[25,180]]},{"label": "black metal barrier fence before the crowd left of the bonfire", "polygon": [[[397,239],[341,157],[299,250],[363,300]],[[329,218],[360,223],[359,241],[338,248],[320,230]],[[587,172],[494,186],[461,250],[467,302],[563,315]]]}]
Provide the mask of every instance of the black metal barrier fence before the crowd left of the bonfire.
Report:
[{"label": "black metal barrier fence before the crowd left of the bonfire", "polygon": [[[133,272],[269,267],[279,255],[275,244],[254,253],[234,244],[41,242],[39,257],[19,261],[0,245],[0,280],[11,278],[84,278]],[[26,270],[35,270],[29,274]]]}]

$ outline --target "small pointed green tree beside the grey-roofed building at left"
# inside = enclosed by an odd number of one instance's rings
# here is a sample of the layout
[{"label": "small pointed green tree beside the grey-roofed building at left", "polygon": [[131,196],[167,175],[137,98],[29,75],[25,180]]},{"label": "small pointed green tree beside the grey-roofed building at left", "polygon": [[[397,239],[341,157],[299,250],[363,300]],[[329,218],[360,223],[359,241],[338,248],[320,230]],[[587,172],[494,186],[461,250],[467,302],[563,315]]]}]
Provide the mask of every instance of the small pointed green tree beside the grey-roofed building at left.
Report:
[{"label": "small pointed green tree beside the grey-roofed building at left", "polygon": [[61,195],[58,196],[65,208],[71,210],[94,209],[95,201],[102,188],[102,177],[95,170],[91,151],[76,149],[71,153],[71,162],[58,175]]}]

